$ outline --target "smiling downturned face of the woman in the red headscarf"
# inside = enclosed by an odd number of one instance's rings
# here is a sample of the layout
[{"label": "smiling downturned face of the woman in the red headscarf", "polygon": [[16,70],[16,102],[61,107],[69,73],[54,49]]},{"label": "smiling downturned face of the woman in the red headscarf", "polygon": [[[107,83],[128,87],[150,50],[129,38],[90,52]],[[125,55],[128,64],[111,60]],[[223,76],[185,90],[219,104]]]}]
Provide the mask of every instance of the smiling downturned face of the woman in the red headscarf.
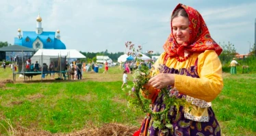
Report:
[{"label": "smiling downturned face of the woman in the red headscarf", "polygon": [[190,29],[188,27],[188,18],[177,16],[172,19],[172,33],[178,44],[188,42],[190,38]]}]

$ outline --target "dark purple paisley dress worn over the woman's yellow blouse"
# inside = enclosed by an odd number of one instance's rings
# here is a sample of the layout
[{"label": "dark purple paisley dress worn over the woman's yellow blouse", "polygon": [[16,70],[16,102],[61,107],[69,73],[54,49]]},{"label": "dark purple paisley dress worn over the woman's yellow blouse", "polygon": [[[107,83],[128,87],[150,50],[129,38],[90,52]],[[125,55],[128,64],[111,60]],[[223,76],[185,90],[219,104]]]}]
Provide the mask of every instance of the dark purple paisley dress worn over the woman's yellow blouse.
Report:
[{"label": "dark purple paisley dress worn over the woman's yellow blouse", "polygon": [[[186,76],[190,76],[193,78],[199,78],[199,75],[196,72],[197,61],[194,66],[190,66],[190,68],[181,68],[179,70],[175,68],[168,68],[167,66],[163,66],[165,73],[172,74],[182,74]],[[159,95],[153,102],[153,111],[161,111],[165,109],[165,105],[163,104],[164,95]],[[185,98],[184,94],[178,94],[178,98]],[[172,112],[174,111],[174,112]],[[168,120],[172,122],[173,130],[168,129],[167,132],[159,128],[154,128],[151,115],[146,115],[144,119],[140,136],[219,136],[221,135],[220,126],[218,121],[215,118],[214,111],[212,107],[207,108],[209,114],[209,122],[196,122],[193,120],[189,120],[184,117],[184,107],[179,107],[179,112],[177,112],[177,108],[175,106],[170,107],[170,111],[168,112]]]}]

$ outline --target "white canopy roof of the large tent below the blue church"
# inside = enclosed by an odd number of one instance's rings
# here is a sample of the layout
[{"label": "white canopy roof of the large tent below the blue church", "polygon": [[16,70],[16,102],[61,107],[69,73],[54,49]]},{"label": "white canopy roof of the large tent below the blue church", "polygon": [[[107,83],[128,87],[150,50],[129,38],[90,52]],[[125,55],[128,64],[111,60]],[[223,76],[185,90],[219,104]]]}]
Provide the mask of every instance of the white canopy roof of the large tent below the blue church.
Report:
[{"label": "white canopy roof of the large tent below the blue church", "polygon": [[[86,58],[75,49],[39,49],[34,56],[67,56],[69,58]],[[33,57],[34,57],[33,56]]]}]

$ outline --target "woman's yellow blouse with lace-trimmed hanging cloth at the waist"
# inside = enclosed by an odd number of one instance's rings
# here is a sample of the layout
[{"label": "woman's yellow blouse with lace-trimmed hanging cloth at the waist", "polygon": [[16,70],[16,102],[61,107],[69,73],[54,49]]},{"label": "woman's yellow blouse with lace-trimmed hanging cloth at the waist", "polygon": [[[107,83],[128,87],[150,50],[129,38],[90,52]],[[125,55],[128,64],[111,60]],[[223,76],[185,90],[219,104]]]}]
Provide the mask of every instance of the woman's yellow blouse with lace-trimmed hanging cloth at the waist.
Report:
[{"label": "woman's yellow blouse with lace-trimmed hanging cloth at the waist", "polygon": [[[162,53],[157,62],[155,62],[155,70],[159,64],[164,64],[164,56]],[[211,107],[210,103],[221,92],[223,87],[222,81],[222,65],[215,51],[207,50],[204,53],[193,53],[185,62],[178,62],[175,57],[168,58],[166,66],[180,70],[195,65],[197,61],[197,73],[199,78],[188,77],[186,75],[175,74],[175,84],[172,90],[179,91],[186,95],[186,100],[189,102],[185,105],[184,116],[196,122],[208,122],[209,114],[207,108]],[[158,73],[159,71],[155,71]],[[152,98],[157,90],[152,86],[149,87],[149,94],[145,98]]]}]

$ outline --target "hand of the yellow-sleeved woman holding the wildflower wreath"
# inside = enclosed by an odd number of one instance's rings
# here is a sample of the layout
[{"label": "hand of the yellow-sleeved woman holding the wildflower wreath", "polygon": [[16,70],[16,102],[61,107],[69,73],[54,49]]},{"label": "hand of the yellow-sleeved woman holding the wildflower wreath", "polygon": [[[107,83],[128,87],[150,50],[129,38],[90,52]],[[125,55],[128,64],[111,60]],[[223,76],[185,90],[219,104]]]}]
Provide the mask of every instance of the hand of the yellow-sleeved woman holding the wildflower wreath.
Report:
[{"label": "hand of the yellow-sleeved woman holding the wildflower wreath", "polygon": [[160,73],[149,80],[149,83],[156,89],[162,89],[168,85],[174,85],[174,74]]}]

